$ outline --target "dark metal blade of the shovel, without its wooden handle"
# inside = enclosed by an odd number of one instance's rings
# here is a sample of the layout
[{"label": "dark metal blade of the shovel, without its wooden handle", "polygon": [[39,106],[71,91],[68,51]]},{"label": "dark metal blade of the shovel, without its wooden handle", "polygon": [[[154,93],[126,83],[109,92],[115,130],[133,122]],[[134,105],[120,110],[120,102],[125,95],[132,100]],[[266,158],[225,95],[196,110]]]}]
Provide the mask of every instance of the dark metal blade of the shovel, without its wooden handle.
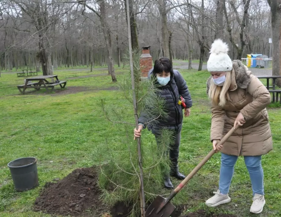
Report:
[{"label": "dark metal blade of the shovel, without its wooden handle", "polygon": [[[165,201],[166,198],[158,195],[145,211],[145,217],[169,217],[176,207],[171,204],[171,202],[162,206]],[[162,209],[158,210],[160,207],[162,207]]]}]

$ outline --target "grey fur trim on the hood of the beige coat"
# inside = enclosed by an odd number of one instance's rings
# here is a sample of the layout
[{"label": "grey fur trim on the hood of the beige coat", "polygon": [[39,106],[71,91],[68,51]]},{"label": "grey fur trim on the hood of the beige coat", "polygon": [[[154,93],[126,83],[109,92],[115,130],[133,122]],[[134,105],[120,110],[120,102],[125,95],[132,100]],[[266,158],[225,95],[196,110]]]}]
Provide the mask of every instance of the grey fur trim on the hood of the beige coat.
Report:
[{"label": "grey fur trim on the hood of the beige coat", "polygon": [[[250,83],[250,74],[252,74],[248,70],[248,67],[246,67],[240,60],[233,60],[231,73],[233,73],[233,70],[235,73],[236,84],[233,84],[232,90],[236,89],[237,87],[241,88],[241,89],[246,89],[248,84]],[[207,94],[210,89],[211,79],[212,79],[212,76],[210,76],[210,78],[208,78],[208,80],[207,80],[207,91],[206,91]]]}]

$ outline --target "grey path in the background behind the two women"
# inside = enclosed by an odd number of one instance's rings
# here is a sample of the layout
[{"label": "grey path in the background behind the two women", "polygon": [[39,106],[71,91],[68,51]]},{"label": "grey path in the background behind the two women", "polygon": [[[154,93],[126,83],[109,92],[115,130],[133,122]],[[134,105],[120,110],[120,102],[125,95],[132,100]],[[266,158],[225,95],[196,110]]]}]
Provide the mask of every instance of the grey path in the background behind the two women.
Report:
[{"label": "grey path in the background behind the two women", "polygon": [[[173,60],[173,63],[176,63],[177,66],[174,67],[174,69],[188,69],[188,62],[184,62],[181,60]],[[193,69],[198,69],[199,63],[192,63]],[[203,63],[202,66],[203,70],[207,69],[207,64]],[[249,70],[253,72],[256,76],[269,76],[272,75],[272,69],[259,69],[259,68],[250,68]]]}]

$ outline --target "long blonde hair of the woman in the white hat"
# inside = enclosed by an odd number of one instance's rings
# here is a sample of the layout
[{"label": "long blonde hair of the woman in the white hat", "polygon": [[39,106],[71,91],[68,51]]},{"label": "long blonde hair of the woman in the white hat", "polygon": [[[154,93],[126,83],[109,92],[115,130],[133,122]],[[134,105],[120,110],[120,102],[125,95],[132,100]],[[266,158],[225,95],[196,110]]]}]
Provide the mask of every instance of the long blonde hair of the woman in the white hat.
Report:
[{"label": "long blonde hair of the woman in the white hat", "polygon": [[209,97],[215,105],[224,107],[227,100],[227,93],[231,83],[231,71],[225,73],[225,82],[223,86],[217,86],[213,82],[213,79],[210,81]]}]

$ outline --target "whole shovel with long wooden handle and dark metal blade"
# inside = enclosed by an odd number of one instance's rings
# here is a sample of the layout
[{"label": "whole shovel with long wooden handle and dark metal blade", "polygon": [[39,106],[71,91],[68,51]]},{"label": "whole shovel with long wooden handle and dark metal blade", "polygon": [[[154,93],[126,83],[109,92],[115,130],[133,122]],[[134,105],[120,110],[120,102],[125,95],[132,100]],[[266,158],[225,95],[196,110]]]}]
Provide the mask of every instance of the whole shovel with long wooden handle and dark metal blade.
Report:
[{"label": "whole shovel with long wooden handle and dark metal blade", "polygon": [[[232,133],[238,128],[232,128],[228,133],[221,139],[216,147],[225,143],[225,141],[232,135]],[[188,174],[187,177],[173,190],[167,198],[162,196],[157,196],[155,200],[150,204],[150,206],[145,211],[145,217],[169,217],[176,207],[170,203],[170,200],[177,195],[178,192],[188,183],[188,181],[198,172],[199,169],[216,153],[215,150],[211,150],[209,154]]]}]

